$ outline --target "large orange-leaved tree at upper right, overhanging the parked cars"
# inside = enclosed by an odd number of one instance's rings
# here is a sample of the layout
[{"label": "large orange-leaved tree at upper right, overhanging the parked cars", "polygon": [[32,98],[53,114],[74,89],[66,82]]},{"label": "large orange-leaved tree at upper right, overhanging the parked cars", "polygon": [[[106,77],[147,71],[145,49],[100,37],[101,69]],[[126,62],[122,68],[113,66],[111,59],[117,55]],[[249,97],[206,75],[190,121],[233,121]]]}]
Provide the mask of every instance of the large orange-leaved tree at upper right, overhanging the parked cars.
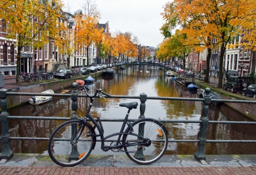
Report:
[{"label": "large orange-leaved tree at upper right, overhanging the parked cars", "polygon": [[[255,1],[175,0],[165,5],[162,15],[166,23],[161,29],[166,36],[170,35],[170,30],[181,25],[187,30],[187,37],[193,38],[188,41],[189,45],[205,45],[207,49],[213,49],[209,41],[213,38],[218,40],[216,47],[221,47],[219,76],[222,77],[226,46],[232,36],[244,33],[240,28],[245,21],[255,19]],[[218,88],[222,88],[222,78],[219,79]]]}]

